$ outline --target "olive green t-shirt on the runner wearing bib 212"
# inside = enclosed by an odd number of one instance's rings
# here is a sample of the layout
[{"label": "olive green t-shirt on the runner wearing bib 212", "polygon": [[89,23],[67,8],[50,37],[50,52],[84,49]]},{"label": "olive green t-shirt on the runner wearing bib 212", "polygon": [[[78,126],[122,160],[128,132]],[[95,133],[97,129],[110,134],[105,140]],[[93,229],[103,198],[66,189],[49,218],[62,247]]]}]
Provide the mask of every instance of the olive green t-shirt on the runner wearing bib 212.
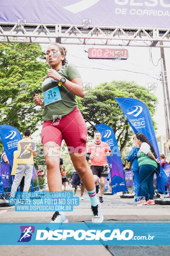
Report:
[{"label": "olive green t-shirt on the runner wearing bib 212", "polygon": [[[80,77],[79,71],[73,64],[67,64],[62,66],[57,72],[65,79],[71,81],[74,78]],[[53,87],[58,86],[59,81],[52,79],[51,77],[45,76],[42,83],[42,92],[49,90]],[[71,113],[78,105],[76,97],[71,93],[63,84],[58,86],[61,94],[61,100],[50,103],[44,107],[43,120],[54,120],[60,119],[63,116]],[[57,117],[58,116],[58,117]]]}]

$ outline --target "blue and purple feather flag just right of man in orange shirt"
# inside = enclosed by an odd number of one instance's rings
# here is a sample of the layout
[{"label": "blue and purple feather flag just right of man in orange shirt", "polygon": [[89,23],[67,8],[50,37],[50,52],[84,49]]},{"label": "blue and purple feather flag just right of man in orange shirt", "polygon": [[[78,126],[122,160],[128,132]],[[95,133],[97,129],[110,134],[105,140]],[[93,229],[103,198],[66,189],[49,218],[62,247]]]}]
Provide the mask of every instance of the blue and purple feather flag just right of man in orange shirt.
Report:
[{"label": "blue and purple feather flag just right of man in orange shirt", "polygon": [[127,191],[122,159],[114,131],[110,126],[104,124],[94,125],[94,127],[102,134],[102,141],[107,143],[112,151],[112,156],[107,157],[111,172],[112,195],[116,192]]}]

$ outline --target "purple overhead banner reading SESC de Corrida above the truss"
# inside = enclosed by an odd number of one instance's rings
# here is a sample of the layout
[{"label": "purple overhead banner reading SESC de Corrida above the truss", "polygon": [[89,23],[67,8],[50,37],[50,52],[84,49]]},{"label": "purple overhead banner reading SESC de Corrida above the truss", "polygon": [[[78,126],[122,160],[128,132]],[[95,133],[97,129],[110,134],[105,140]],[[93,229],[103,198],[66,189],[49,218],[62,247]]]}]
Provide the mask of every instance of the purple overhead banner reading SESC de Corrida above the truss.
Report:
[{"label": "purple overhead banner reading SESC de Corrida above the truss", "polygon": [[169,0],[5,0],[0,10],[6,23],[170,27]]}]

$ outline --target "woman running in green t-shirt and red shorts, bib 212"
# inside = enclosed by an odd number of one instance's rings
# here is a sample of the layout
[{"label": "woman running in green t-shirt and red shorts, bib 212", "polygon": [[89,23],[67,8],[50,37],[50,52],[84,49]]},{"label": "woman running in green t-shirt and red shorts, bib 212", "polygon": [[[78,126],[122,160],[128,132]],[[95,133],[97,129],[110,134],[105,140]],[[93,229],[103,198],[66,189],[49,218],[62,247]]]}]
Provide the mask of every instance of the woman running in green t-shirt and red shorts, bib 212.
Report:
[{"label": "woman running in green t-shirt and red shorts, bib 212", "polygon": [[[59,171],[59,154],[62,140],[68,151],[80,179],[91,200],[92,221],[102,222],[103,214],[96,197],[94,178],[86,162],[87,128],[82,114],[77,108],[75,96],[84,98],[82,79],[79,71],[65,59],[67,50],[57,43],[46,49],[46,60],[51,66],[48,76],[42,83],[42,100],[37,94],[34,103],[44,107],[42,125],[42,145],[47,166],[49,191],[62,191],[62,179]],[[63,212],[55,212],[52,221],[68,222]]]}]

